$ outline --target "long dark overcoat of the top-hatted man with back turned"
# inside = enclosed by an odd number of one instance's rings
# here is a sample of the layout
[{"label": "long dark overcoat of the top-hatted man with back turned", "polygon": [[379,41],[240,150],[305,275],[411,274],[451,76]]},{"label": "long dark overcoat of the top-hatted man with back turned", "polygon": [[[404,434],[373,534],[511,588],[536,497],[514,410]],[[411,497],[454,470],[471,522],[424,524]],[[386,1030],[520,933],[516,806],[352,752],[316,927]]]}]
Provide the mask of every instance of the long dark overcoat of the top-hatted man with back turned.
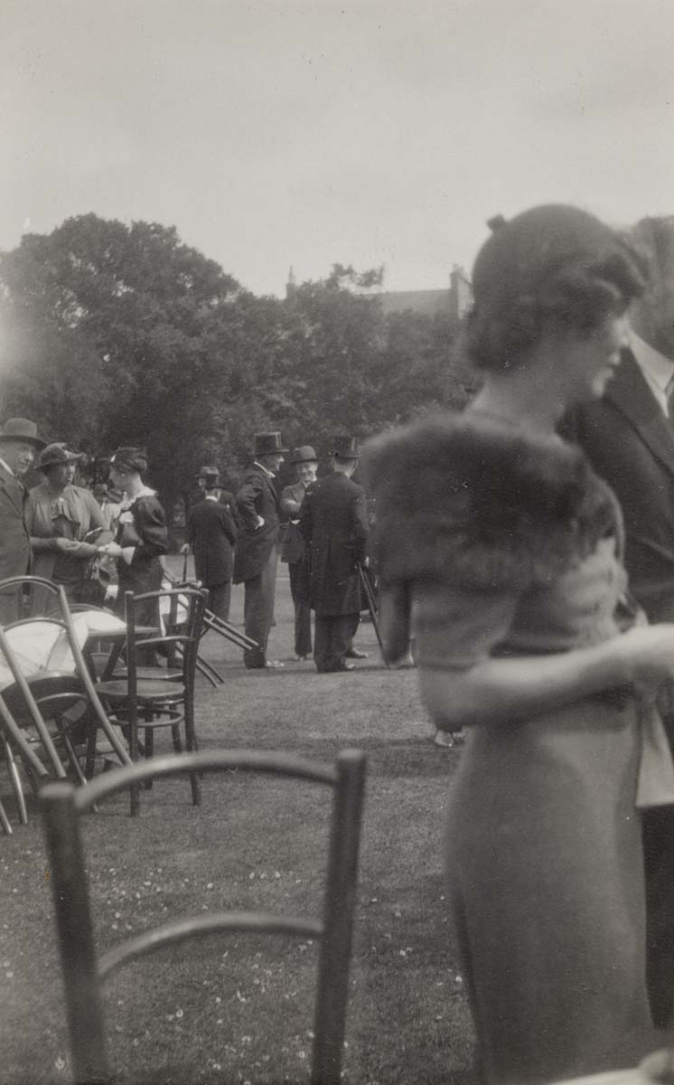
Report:
[{"label": "long dark overcoat of the top-hatted man with back turned", "polygon": [[300,513],[309,554],[311,604],[316,614],[358,614],[358,564],[365,558],[365,490],[335,471],[312,483]]}]

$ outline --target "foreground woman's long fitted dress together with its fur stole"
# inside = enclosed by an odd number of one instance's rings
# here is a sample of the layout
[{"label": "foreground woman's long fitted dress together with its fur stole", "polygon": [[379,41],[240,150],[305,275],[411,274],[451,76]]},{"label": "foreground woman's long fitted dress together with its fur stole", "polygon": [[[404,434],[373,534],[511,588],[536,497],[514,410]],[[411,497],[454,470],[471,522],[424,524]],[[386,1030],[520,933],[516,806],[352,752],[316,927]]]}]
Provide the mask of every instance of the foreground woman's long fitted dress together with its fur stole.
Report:
[{"label": "foreground woman's long fitted dress together with its fur stole", "polygon": [[[463,416],[381,438],[366,470],[385,641],[400,650],[411,631],[422,668],[535,661],[638,621],[618,505],[557,438]],[[468,728],[445,859],[489,1083],[614,1069],[652,1045],[635,809],[645,713],[618,688]]]}]

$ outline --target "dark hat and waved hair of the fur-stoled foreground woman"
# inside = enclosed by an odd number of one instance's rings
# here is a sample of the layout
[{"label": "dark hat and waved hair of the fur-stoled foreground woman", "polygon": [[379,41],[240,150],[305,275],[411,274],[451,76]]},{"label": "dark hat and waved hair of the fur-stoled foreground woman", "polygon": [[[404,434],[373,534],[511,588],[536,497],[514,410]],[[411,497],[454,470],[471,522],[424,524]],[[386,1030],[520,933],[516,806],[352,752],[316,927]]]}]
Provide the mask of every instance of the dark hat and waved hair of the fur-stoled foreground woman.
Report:
[{"label": "dark hat and waved hair of the fur-stoled foreground woman", "polygon": [[589,333],[641,294],[645,267],[635,250],[578,207],[548,204],[489,225],[465,321],[479,369],[517,365],[545,332]]}]

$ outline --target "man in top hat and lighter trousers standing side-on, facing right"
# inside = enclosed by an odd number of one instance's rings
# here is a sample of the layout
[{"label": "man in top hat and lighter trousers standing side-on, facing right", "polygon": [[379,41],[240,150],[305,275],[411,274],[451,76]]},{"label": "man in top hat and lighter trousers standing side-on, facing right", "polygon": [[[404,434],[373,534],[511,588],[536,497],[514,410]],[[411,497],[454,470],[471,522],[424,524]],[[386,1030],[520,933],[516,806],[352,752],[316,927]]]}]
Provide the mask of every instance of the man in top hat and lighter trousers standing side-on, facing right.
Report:
[{"label": "man in top hat and lighter trousers standing side-on, facing right", "polygon": [[239,531],[234,554],[234,584],[244,584],[246,636],[258,643],[257,649],[244,650],[244,664],[249,669],[283,666],[277,660],[267,659],[267,641],[274,621],[281,513],[274,475],[283,463],[284,452],[287,448],[282,447],[280,433],[256,433],[255,461],[236,495]]}]

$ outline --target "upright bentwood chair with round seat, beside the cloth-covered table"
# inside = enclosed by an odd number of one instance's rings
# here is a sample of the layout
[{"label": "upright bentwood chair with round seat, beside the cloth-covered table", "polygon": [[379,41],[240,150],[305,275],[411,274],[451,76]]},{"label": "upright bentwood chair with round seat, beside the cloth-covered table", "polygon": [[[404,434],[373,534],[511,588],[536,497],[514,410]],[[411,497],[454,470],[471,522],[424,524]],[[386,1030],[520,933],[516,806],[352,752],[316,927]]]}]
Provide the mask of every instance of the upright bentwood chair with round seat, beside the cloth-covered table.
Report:
[{"label": "upright bentwood chair with round seat, beside the cloth-covered table", "polygon": [[[169,603],[167,631],[152,637],[139,637],[137,607],[151,599]],[[194,684],[205,605],[206,593],[195,588],[171,588],[139,596],[134,596],[132,591],[125,593],[126,667],[119,677],[99,682],[96,690],[109,711],[128,727],[132,761],[138,761],[140,754],[139,728],[143,729],[146,757],[154,755],[154,732],[159,727],[170,728],[174,753],[182,750],[181,727],[185,749],[198,749],[194,726]],[[180,621],[172,610],[174,607],[182,608]],[[166,667],[139,666],[139,651],[159,648],[166,653]],[[198,806],[202,791],[196,774],[192,775],[191,781],[192,802]],[[152,783],[152,777],[147,778],[147,782]],[[137,816],[139,813],[140,791],[132,788],[131,814]]]}]

